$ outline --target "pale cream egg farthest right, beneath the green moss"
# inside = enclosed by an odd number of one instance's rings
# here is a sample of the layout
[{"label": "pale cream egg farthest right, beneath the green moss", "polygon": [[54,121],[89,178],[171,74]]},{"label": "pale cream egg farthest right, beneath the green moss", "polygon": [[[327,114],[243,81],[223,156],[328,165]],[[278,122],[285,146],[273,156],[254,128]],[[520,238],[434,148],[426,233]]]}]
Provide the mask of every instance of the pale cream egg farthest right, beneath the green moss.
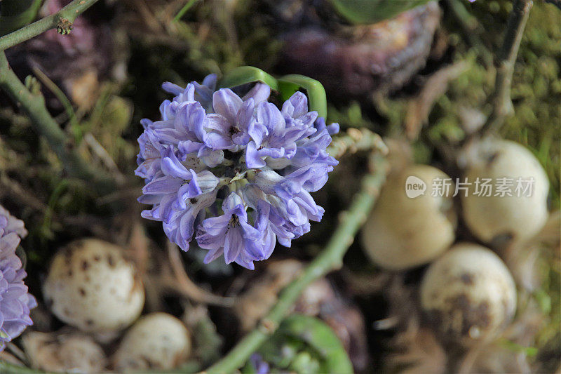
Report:
[{"label": "pale cream egg farthest right, beneath the green moss", "polygon": [[[464,174],[469,193],[461,194],[471,232],[494,246],[537,234],[548,217],[549,182],[536,156],[510,140],[487,140],[475,148],[477,157]],[[482,187],[485,179],[490,192]]]}]

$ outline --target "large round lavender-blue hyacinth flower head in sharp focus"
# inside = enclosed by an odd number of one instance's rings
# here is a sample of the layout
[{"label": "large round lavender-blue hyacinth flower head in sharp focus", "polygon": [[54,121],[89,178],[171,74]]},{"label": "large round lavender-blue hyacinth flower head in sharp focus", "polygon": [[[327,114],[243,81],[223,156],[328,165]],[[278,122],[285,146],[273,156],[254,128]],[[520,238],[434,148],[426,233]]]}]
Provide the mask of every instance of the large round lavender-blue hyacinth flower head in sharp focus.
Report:
[{"label": "large round lavender-blue hyacinth flower head in sharp focus", "polygon": [[144,178],[142,217],[163,222],[182,250],[196,240],[205,263],[224,255],[254,269],[276,242],[310,231],[324,213],[311,196],[337,160],[326,152],[339,125],[326,126],[296,92],[279,108],[271,88],[257,83],[245,95],[215,91],[216,77],[186,88],[160,106],[161,120],[142,120],[136,175]]}]

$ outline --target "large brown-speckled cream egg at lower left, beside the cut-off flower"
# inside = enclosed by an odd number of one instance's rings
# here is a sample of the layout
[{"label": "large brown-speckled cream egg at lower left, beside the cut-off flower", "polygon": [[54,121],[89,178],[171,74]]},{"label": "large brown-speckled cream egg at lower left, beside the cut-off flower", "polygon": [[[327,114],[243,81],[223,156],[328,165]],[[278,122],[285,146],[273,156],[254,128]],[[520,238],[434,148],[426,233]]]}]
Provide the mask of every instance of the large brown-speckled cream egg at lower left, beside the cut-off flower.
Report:
[{"label": "large brown-speckled cream egg at lower left, beside the cut-off flower", "polygon": [[50,310],[83,331],[111,333],[133,323],[144,307],[144,288],[119,246],[83,239],[60,250],[43,284]]}]

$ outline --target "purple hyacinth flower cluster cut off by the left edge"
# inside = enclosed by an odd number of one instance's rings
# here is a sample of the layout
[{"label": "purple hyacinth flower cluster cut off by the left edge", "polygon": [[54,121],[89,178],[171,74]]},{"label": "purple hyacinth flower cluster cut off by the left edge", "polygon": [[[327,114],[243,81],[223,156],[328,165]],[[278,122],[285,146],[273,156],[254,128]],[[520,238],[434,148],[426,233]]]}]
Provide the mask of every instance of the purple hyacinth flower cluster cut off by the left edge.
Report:
[{"label": "purple hyacinth flower cluster cut off by the left edge", "polygon": [[17,338],[32,325],[29,310],[37,306],[27,293],[23,279],[27,276],[15,250],[27,235],[23,222],[0,206],[0,352],[6,342]]}]

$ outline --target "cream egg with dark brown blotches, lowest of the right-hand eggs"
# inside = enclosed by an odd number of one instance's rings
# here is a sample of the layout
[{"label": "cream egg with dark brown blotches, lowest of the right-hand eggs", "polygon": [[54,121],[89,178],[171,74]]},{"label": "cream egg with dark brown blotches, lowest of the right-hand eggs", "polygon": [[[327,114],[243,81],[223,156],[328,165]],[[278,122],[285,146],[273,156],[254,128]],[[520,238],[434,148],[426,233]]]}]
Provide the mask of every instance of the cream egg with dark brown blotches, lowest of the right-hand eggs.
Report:
[{"label": "cream egg with dark brown blotches, lowest of the right-hand eggs", "polygon": [[468,346],[493,338],[511,321],[516,287],[494,252],[459,243],[428,267],[421,307],[444,340]]}]

